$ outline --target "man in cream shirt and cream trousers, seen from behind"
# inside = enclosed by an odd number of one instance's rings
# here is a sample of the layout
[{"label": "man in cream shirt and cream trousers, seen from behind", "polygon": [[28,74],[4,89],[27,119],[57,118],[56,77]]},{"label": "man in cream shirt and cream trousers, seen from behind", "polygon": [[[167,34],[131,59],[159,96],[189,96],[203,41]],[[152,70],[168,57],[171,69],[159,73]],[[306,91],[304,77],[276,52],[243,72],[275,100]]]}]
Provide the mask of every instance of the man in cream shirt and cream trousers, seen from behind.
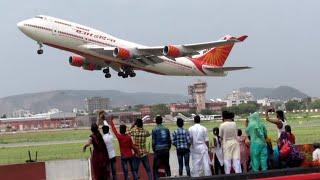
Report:
[{"label": "man in cream shirt and cream trousers, seen from behind", "polygon": [[237,141],[238,128],[234,122],[234,114],[222,112],[223,123],[219,127],[219,136],[222,138],[224,170],[230,174],[231,164],[236,173],[241,173],[240,145]]}]

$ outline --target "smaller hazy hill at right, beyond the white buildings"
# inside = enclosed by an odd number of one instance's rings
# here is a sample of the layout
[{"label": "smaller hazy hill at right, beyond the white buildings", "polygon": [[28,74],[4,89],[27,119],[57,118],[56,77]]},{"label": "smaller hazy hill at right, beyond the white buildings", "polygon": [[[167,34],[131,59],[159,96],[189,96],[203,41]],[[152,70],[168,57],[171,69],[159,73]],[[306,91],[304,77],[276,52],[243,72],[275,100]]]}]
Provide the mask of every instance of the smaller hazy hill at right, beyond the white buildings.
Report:
[{"label": "smaller hazy hill at right, beyond the white buildings", "polygon": [[307,98],[308,95],[289,86],[279,86],[277,88],[260,88],[260,87],[244,87],[240,91],[249,91],[254,98],[261,99],[264,97],[288,100],[292,98]]}]

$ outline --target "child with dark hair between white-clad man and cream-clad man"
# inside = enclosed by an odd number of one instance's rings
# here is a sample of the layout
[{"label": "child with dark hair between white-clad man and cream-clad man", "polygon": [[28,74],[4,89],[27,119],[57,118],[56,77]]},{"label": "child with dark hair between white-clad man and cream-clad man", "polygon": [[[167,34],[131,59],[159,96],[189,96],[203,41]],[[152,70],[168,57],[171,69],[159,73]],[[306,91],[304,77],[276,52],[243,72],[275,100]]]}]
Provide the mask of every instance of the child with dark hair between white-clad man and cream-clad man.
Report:
[{"label": "child with dark hair between white-clad man and cream-clad man", "polygon": [[224,167],[223,167],[223,153],[222,153],[222,146],[221,146],[221,137],[219,136],[219,128],[213,128],[213,158],[212,158],[212,165],[214,166],[214,173],[217,174],[224,174]]}]

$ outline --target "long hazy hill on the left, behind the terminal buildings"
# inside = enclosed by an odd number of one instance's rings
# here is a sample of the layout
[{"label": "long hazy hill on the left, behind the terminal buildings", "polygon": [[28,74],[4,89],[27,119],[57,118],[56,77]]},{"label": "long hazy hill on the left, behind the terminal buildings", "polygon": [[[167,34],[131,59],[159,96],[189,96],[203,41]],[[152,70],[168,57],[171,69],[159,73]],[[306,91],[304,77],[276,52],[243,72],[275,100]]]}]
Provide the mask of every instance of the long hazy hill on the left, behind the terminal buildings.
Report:
[{"label": "long hazy hill on the left, behind the terminal buildings", "polygon": [[58,108],[62,111],[72,111],[73,108],[83,109],[85,98],[93,96],[109,98],[113,107],[184,102],[187,99],[186,96],[179,94],[127,93],[116,90],[57,90],[0,98],[0,114],[11,114],[17,109],[27,109],[35,113],[47,112],[51,108]]}]

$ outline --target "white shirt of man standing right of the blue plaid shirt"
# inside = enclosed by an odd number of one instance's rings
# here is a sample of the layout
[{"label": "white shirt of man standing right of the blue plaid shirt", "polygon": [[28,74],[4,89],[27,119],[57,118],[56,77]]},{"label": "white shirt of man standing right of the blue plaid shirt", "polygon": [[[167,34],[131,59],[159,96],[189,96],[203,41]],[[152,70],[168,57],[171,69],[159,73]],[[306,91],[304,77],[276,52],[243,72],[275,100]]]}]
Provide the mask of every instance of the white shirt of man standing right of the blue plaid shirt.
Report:
[{"label": "white shirt of man standing right of the blue plaid shirt", "polygon": [[206,142],[209,141],[207,128],[200,124],[195,124],[189,128],[189,134],[191,138],[191,150],[196,152],[208,151]]}]

